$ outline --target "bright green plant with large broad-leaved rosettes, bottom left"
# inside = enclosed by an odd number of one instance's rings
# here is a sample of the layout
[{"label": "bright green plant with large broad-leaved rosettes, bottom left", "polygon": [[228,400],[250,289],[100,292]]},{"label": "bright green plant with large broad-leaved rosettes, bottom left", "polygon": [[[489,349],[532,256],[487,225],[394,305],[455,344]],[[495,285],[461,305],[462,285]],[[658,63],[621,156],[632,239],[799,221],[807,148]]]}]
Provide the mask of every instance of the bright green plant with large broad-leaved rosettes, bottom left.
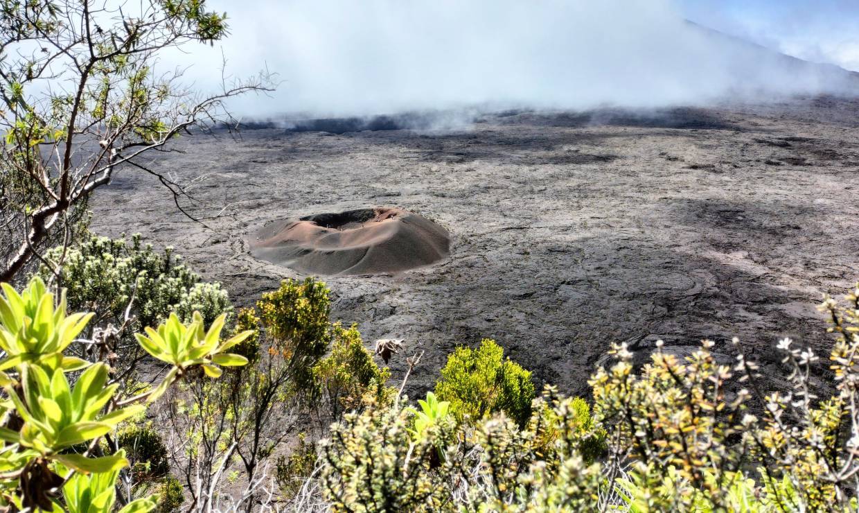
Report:
[{"label": "bright green plant with large broad-leaved rosettes, bottom left", "polygon": [[[67,449],[99,447],[101,437],[143,412],[145,403],[185,370],[204,366],[216,374],[216,364],[244,361],[223,352],[241,341],[240,335],[221,342],[223,315],[208,332],[196,313],[190,325],[171,316],[168,324],[149,329],[149,338],[140,339],[145,339],[146,351],[173,368],[151,391],[121,398],[119,384],[109,381],[107,364],[64,354],[91,315],[67,316],[62,295],[56,301],[40,278],[21,294],[9,284],[2,287],[0,345],[5,354],[0,358],[0,385],[7,400],[0,403],[0,504],[6,506],[55,510],[58,501],[64,501],[75,512],[111,510],[119,470],[129,464],[125,451],[94,457]],[[58,487],[60,494],[52,490]],[[123,511],[154,507],[154,498],[143,498]]]}]

